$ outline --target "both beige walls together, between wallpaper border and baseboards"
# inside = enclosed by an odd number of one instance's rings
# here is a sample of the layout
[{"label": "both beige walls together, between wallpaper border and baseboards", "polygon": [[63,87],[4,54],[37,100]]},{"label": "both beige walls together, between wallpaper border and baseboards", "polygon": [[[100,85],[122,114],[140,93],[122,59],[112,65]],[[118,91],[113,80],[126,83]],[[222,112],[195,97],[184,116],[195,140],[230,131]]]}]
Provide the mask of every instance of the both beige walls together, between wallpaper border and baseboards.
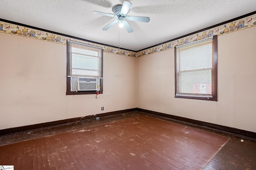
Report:
[{"label": "both beige walls together, between wallpaper border and baseboards", "polygon": [[218,37],[218,102],[174,98],[174,49],[104,53],[104,94],[66,96],[65,45],[0,33],[0,129],[139,107],[256,132],[255,32]]}]

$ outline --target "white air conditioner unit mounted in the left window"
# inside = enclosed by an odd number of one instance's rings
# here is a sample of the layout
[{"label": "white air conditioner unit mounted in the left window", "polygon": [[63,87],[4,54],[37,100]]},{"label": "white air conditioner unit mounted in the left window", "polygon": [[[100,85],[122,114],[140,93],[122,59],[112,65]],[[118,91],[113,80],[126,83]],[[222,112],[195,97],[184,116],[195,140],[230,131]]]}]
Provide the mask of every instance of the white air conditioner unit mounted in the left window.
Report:
[{"label": "white air conditioner unit mounted in the left window", "polygon": [[70,77],[70,91],[92,91],[98,90],[97,86],[100,85],[99,78],[91,77]]}]

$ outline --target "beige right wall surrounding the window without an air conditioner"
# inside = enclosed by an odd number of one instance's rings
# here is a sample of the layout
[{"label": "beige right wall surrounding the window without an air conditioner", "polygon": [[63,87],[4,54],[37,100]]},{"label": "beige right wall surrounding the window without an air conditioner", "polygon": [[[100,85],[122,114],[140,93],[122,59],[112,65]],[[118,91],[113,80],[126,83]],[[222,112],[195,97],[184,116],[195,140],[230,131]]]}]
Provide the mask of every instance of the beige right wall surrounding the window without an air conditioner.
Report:
[{"label": "beige right wall surrounding the window without an air conditioner", "polygon": [[256,132],[256,27],[218,37],[218,102],[174,98],[174,49],[138,58],[137,107]]}]

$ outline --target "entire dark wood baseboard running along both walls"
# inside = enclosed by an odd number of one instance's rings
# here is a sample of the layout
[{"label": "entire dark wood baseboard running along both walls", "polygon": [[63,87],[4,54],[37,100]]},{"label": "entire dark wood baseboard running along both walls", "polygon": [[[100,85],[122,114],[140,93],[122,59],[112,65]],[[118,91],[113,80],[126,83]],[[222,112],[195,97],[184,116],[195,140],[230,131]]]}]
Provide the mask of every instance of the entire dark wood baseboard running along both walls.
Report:
[{"label": "entire dark wood baseboard running along both walls", "polygon": [[174,121],[178,121],[178,122],[182,122],[182,123],[186,123],[186,124],[190,124],[190,125],[195,125],[195,126],[206,128],[206,129],[212,129],[215,131],[228,133],[230,135],[236,135],[236,136],[256,140],[255,132],[246,131],[246,130],[242,130],[242,129],[236,129],[233,127],[228,127],[228,126],[223,126],[223,125],[217,125],[214,123],[208,123],[208,122],[204,122],[204,121],[198,121],[198,120],[175,116],[175,115],[169,115],[166,113],[160,113],[157,111],[151,111],[151,110],[146,110],[146,109],[141,109],[141,108],[132,108],[132,109],[119,110],[119,111],[111,111],[108,113],[100,113],[100,114],[89,115],[89,116],[85,116],[85,117],[75,117],[75,118],[70,118],[70,119],[51,121],[51,122],[46,122],[46,123],[34,124],[34,125],[1,129],[0,136],[5,136],[5,135],[10,135],[10,134],[15,134],[15,133],[22,133],[22,132],[26,132],[26,131],[34,131],[34,130],[38,130],[38,129],[45,129],[45,128],[50,128],[50,127],[60,126],[60,125],[67,125],[70,123],[78,123],[78,122],[82,122],[82,121],[93,120],[96,117],[102,118],[102,117],[114,116],[114,115],[118,115],[118,114],[122,114],[122,113],[128,113],[128,112],[132,112],[132,111],[139,111],[139,112],[146,113],[148,115],[164,117],[164,118],[172,119]]}]

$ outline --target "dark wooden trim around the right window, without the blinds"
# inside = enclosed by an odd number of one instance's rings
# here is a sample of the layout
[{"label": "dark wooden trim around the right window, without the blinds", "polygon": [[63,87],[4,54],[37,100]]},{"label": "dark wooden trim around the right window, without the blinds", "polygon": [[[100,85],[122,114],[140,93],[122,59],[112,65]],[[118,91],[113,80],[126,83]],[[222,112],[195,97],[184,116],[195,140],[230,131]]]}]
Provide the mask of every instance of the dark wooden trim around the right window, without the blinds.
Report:
[{"label": "dark wooden trim around the right window, without the blinds", "polygon": [[212,50],[213,50],[213,92],[212,92],[212,97],[201,97],[201,96],[179,96],[176,95],[176,47],[174,48],[174,69],[175,69],[175,95],[174,98],[184,98],[184,99],[196,99],[196,100],[210,100],[210,101],[217,101],[217,76],[218,76],[218,40],[217,40],[217,35],[214,35],[213,37],[213,42],[212,42]]}]

